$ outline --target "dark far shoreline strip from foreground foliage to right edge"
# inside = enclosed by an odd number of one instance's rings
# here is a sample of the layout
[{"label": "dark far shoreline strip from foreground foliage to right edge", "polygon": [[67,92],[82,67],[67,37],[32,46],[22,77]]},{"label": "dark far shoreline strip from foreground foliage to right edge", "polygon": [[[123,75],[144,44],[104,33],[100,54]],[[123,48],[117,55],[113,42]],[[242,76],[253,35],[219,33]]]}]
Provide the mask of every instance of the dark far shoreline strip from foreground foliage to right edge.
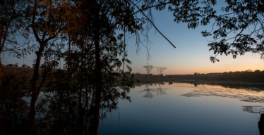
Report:
[{"label": "dark far shoreline strip from foreground foliage to right edge", "polygon": [[162,75],[160,79],[158,75],[150,75],[148,79],[148,75],[136,73],[135,79],[138,79],[141,83],[187,82],[199,84],[264,84],[264,70],[245,70],[208,74],[195,72],[193,75]]}]

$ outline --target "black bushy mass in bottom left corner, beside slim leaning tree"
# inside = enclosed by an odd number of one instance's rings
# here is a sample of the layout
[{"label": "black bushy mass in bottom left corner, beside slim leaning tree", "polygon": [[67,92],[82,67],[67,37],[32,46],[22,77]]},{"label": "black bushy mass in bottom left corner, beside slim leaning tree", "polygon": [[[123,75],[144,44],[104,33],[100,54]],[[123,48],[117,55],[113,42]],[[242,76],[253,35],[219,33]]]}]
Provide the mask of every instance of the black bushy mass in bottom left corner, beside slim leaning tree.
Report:
[{"label": "black bushy mass in bottom left corner, beside slim leaning tree", "polygon": [[0,89],[0,134],[28,134],[28,103],[20,95],[25,77],[9,74]]}]

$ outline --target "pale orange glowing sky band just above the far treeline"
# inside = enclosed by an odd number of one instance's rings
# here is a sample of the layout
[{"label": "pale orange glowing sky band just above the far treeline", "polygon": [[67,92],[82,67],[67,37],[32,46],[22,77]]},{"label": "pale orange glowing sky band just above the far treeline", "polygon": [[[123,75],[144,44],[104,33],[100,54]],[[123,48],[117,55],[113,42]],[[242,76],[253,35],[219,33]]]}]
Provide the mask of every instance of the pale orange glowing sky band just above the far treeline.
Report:
[{"label": "pale orange glowing sky band just above the far treeline", "polygon": [[[236,59],[233,59],[232,56],[221,56],[220,62],[211,63],[209,58],[200,58],[198,60],[185,60],[185,61],[176,61],[176,62],[167,62],[159,61],[158,64],[155,64],[155,60],[151,65],[163,65],[162,67],[167,67],[164,70],[163,75],[193,75],[194,72],[200,74],[208,74],[212,72],[236,72],[236,71],[245,71],[245,70],[264,70],[264,61],[261,60],[258,56],[252,57],[251,53],[245,54],[245,56],[239,56]],[[160,63],[160,64],[159,64]],[[143,66],[140,65],[133,66],[132,72],[140,72],[145,74]],[[154,68],[151,72],[153,75],[157,75],[157,70]]]}]

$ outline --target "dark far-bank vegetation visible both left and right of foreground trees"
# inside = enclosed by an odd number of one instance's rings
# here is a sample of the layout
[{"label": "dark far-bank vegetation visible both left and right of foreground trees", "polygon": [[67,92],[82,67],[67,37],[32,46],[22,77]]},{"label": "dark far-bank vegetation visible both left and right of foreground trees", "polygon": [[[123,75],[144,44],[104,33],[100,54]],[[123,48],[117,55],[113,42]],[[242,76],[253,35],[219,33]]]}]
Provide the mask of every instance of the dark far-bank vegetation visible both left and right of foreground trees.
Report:
[{"label": "dark far-bank vegetation visible both left and right of foreground trees", "polygon": [[[23,67],[8,67],[3,66],[4,76],[16,77],[16,79],[21,79],[25,82],[25,85],[22,89],[28,89],[30,87],[30,79],[33,74],[32,68],[23,68]],[[40,69],[40,79],[37,83],[40,83],[42,80],[41,75],[42,70]],[[136,79],[139,81],[136,82]],[[135,85],[138,84],[150,84],[150,83],[160,83],[160,82],[184,82],[191,84],[260,84],[264,85],[264,70],[246,70],[246,71],[237,71],[237,72],[222,72],[222,73],[208,73],[208,74],[199,74],[195,72],[193,75],[165,75],[159,77],[159,75],[148,75],[136,73],[134,74]],[[45,84],[44,84],[45,86]]]}]

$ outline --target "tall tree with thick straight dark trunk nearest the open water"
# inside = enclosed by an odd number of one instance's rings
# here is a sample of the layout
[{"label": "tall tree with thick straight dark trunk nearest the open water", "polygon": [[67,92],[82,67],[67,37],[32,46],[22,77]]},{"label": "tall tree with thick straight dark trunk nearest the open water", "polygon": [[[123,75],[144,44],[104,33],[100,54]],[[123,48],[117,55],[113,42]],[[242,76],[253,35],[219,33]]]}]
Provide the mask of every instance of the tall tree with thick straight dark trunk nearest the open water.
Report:
[{"label": "tall tree with thick straight dark trunk nearest the open water", "polygon": [[[126,20],[126,30],[133,32],[140,29],[140,25],[136,23],[132,14],[132,8],[126,7],[124,11],[124,1],[82,1],[80,9],[83,10],[83,17],[85,17],[84,30],[88,33],[88,36],[92,37],[95,47],[95,111],[93,116],[93,128],[92,134],[98,133],[99,118],[100,118],[100,103],[102,99],[102,62],[100,51],[103,50],[104,44],[102,44],[105,38],[116,40],[115,30],[124,26],[124,20]],[[124,29],[124,27],[122,28]]]}]

